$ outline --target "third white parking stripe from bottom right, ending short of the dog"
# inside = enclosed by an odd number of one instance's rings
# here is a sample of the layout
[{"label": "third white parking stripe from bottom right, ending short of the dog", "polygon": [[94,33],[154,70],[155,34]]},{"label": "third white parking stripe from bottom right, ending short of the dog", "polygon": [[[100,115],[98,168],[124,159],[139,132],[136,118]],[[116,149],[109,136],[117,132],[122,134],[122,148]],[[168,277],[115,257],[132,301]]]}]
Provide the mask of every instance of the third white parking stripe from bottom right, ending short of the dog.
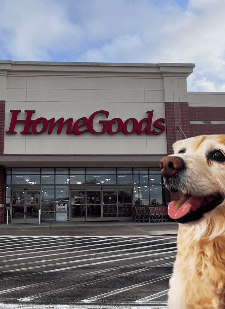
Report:
[{"label": "third white parking stripe from bottom right, ending short of the dog", "polygon": [[[102,281],[106,281],[106,280],[110,280],[110,279],[115,279],[115,278],[118,278],[118,277],[125,277],[125,276],[128,276],[128,275],[134,274],[134,273],[141,273],[141,272],[147,271],[147,270],[150,270],[150,269],[145,267],[145,268],[142,268],[142,269],[137,269],[137,270],[133,270],[133,271],[126,272],[126,273],[120,273],[120,274],[108,276],[108,277],[105,277],[105,278],[100,278],[100,279],[96,279],[96,280],[85,281],[85,282],[82,282],[82,283],[73,284],[71,286],[66,286],[66,287],[63,287],[63,288],[60,288],[60,289],[57,289],[57,290],[51,290],[51,291],[47,291],[47,292],[43,292],[43,293],[31,295],[31,296],[26,296],[26,297],[23,297],[23,298],[19,298],[17,300],[19,300],[20,302],[31,301],[31,300],[34,300],[36,298],[40,298],[42,296],[52,295],[52,294],[56,294],[56,293],[59,293],[59,292],[65,292],[65,291],[73,290],[76,287],[87,286],[87,285],[90,285],[90,284],[94,284],[94,283],[98,283],[98,282],[102,282]],[[38,285],[38,284],[36,284],[36,285]],[[25,287],[25,289],[26,288],[27,287]],[[19,288],[15,288],[15,289],[19,290]],[[6,292],[4,292],[4,293],[6,293]]]}]

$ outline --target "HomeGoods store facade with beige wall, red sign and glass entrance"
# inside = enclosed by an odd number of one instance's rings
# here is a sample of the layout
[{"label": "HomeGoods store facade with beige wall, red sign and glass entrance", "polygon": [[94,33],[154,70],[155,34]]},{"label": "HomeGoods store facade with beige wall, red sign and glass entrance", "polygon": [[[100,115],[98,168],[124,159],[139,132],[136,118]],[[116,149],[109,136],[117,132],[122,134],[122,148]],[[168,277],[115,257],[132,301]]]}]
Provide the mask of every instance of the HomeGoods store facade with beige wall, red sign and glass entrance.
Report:
[{"label": "HomeGoods store facade with beige wall, red sign and glass entrance", "polygon": [[133,205],[179,198],[159,162],[178,125],[199,135],[195,118],[224,108],[223,94],[204,106],[187,92],[193,68],[0,61],[0,223],[130,220]]}]

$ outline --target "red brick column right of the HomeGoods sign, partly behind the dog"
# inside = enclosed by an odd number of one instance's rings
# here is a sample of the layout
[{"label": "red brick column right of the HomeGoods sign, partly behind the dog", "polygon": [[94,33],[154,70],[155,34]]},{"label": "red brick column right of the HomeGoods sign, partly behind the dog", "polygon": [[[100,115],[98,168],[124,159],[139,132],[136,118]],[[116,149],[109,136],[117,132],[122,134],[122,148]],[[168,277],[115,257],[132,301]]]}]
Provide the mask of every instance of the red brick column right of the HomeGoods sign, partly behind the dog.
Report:
[{"label": "red brick column right of the HomeGoods sign, partly behind the dog", "polygon": [[[185,136],[180,129],[176,127],[180,125],[186,137],[191,137],[190,133],[190,116],[188,103],[181,102],[165,102],[166,128],[167,128],[167,151],[168,155],[173,154],[172,145]],[[178,201],[183,196],[181,191],[171,192],[171,201]]]}]

